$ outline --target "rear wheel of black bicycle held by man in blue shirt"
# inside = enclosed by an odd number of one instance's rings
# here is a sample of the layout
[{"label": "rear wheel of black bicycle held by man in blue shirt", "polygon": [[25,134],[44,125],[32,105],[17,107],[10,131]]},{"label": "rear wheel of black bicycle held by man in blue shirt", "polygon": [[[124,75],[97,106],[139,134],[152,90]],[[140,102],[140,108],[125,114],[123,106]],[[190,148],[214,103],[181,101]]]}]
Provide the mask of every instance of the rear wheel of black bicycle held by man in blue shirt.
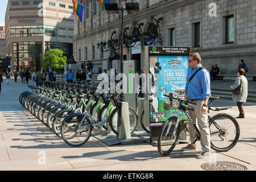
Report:
[{"label": "rear wheel of black bicycle held by man in blue shirt", "polygon": [[[240,127],[232,115],[216,114],[209,122],[210,147],[218,152],[225,152],[233,148],[240,137]],[[219,130],[221,128],[223,131]]]}]

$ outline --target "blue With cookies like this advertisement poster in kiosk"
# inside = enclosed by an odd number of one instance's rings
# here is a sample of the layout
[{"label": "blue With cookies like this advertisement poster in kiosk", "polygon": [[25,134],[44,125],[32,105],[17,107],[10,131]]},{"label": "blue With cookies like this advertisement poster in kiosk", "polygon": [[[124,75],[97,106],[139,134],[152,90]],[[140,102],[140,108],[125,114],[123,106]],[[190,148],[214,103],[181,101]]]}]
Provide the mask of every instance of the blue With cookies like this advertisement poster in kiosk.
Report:
[{"label": "blue With cookies like this advertisement poster in kiosk", "polygon": [[[151,126],[162,125],[157,122],[166,121],[177,107],[177,100],[171,101],[163,94],[184,100],[188,68],[188,56],[158,56],[155,67],[150,68],[153,75],[158,74],[158,98],[152,100],[150,109]],[[184,113],[181,120],[187,120]]]}]

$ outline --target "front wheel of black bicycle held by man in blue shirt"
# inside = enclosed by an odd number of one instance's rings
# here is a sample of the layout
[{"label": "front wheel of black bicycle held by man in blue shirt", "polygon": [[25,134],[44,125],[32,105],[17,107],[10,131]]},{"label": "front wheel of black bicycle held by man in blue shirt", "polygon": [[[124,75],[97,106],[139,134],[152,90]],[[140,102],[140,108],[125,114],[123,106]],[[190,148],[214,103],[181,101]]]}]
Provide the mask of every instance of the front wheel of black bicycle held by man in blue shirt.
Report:
[{"label": "front wheel of black bicycle held by man in blue shirt", "polygon": [[171,117],[162,125],[158,137],[158,151],[161,155],[168,155],[174,150],[177,139],[180,135],[180,123],[174,134],[175,125],[177,122],[176,117]]}]

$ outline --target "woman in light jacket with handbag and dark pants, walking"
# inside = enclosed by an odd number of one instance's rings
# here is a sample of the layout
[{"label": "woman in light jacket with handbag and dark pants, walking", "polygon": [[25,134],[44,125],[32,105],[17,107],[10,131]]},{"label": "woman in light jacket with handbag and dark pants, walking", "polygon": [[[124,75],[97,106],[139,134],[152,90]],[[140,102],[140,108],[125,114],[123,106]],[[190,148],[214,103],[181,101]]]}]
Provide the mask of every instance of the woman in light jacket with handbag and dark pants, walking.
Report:
[{"label": "woman in light jacket with handbag and dark pants, walking", "polygon": [[245,75],[245,69],[239,68],[237,70],[237,78],[232,88],[232,100],[237,102],[239,116],[236,118],[245,118],[245,111],[243,110],[243,102],[246,102],[248,94],[248,82]]}]

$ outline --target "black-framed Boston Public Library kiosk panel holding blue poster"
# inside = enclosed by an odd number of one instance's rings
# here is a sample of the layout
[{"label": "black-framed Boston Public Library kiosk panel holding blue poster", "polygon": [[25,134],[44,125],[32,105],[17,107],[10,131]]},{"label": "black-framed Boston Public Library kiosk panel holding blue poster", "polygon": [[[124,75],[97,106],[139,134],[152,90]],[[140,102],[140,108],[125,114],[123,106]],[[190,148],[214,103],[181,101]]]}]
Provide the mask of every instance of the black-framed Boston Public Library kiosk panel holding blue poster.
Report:
[{"label": "black-framed Boston Public Library kiosk panel holding blue poster", "polygon": [[[164,97],[168,94],[172,97],[184,99],[185,85],[188,73],[188,58],[191,47],[145,47],[145,73],[147,76],[144,119],[150,125],[150,143],[156,146],[160,129],[165,121],[174,113],[177,101],[171,101]],[[188,118],[181,115],[181,133],[178,139],[180,143],[189,143],[187,140],[186,124]]]}]

